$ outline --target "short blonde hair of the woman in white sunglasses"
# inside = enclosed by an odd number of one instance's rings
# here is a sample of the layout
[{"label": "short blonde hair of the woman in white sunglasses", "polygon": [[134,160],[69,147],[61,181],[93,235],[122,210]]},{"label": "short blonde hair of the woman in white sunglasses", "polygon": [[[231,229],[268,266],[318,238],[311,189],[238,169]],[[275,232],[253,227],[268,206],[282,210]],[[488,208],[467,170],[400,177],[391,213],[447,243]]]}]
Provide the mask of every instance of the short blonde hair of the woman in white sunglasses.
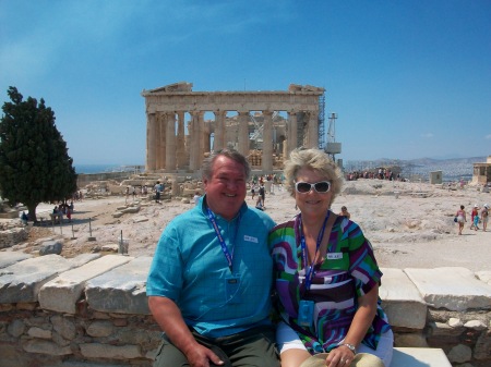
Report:
[{"label": "short blonde hair of the woman in white sunglasses", "polygon": [[298,172],[309,169],[318,172],[331,182],[332,200],[340,193],[343,186],[343,173],[333,160],[321,149],[297,148],[290,152],[290,158],[285,162],[285,186],[291,196],[295,196],[295,183]]}]

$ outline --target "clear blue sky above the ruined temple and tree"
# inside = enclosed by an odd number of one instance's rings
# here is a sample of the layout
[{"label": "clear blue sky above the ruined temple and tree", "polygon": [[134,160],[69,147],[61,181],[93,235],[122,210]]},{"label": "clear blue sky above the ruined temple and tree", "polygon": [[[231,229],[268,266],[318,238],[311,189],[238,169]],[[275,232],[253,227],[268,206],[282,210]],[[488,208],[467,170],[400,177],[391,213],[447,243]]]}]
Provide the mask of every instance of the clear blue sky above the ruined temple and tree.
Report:
[{"label": "clear blue sky above the ruined temple and tree", "polygon": [[[143,89],[324,87],[346,160],[491,155],[491,1],[0,0],[0,103],[76,164],[145,161]],[[327,130],[327,124],[326,124]]]}]

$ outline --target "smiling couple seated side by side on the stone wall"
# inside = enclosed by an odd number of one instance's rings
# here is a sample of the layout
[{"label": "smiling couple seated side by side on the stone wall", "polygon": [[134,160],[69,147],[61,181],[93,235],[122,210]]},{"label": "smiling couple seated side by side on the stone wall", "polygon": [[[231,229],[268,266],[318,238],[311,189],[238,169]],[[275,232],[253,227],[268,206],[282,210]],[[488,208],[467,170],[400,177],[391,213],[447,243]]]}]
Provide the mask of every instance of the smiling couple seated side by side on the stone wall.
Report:
[{"label": "smiling couple seated side by side on the stone wall", "polygon": [[299,212],[283,223],[247,205],[250,173],[238,151],[212,154],[204,195],[161,233],[146,284],[164,331],[154,366],[388,366],[373,248],[346,208],[331,210],[340,170],[294,150],[284,184]]}]

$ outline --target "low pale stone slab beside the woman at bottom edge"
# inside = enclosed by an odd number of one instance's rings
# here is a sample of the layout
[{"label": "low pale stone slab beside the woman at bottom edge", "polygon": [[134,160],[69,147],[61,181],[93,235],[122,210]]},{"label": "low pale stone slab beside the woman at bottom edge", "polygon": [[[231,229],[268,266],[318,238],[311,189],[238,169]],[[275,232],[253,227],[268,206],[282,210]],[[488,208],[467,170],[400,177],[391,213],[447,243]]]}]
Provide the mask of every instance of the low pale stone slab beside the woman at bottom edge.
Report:
[{"label": "low pale stone slab beside the woman at bottom edge", "polygon": [[441,348],[395,347],[391,367],[452,367]]}]

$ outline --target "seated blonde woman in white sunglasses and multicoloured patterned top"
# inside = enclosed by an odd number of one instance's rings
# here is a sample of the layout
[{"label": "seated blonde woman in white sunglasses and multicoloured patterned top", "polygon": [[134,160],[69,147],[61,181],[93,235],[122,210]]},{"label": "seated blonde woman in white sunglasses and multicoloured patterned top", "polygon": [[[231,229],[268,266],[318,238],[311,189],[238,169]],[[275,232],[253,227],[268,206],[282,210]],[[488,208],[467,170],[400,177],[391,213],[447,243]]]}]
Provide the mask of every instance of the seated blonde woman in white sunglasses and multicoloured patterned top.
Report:
[{"label": "seated blonde woman in white sunglasses and multicoloured patterned top", "polygon": [[360,228],[331,211],[342,173],[322,150],[296,149],[285,176],[300,213],[270,233],[282,367],[387,367],[394,337],[379,305],[382,272]]}]

